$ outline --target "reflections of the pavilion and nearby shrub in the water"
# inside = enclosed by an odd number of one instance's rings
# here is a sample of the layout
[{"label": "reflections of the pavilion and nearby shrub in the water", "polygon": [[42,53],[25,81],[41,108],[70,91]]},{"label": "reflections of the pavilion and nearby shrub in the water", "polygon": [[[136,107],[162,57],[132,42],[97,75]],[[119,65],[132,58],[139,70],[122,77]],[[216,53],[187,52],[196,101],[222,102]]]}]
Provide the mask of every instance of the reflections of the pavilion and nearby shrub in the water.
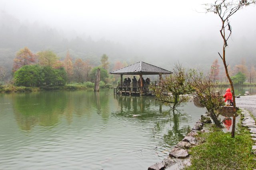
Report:
[{"label": "reflections of the pavilion and nearby shrub in the water", "polygon": [[[141,123],[155,119],[152,133],[161,134],[164,132],[162,140],[170,146],[176,145],[191,130],[186,113],[182,113],[181,110],[172,111],[167,106],[164,106],[165,111],[162,111],[162,103],[154,100],[153,97],[116,96],[116,99],[120,106],[120,112],[117,113],[118,116],[130,118],[131,114],[140,115],[137,120]],[[132,108],[130,104],[132,104]],[[180,121],[182,121],[182,127],[180,127]],[[158,136],[152,135],[152,137],[156,138]]]}]

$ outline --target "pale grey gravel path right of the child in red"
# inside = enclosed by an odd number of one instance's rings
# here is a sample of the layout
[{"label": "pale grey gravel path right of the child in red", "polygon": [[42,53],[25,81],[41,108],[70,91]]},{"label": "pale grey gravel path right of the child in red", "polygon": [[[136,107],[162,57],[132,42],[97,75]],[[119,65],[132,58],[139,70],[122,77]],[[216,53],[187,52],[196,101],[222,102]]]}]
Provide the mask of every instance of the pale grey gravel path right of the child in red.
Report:
[{"label": "pale grey gravel path right of the child in red", "polygon": [[256,118],[256,95],[241,96],[236,98],[236,107],[247,109]]}]

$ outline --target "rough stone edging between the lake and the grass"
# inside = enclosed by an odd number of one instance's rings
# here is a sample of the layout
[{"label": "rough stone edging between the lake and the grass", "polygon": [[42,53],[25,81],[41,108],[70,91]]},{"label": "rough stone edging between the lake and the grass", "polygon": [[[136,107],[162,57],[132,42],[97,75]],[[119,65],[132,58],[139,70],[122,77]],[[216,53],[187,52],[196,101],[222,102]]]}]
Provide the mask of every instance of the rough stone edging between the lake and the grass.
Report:
[{"label": "rough stone edging between the lake and the grass", "polygon": [[176,146],[174,146],[169,153],[169,157],[165,158],[161,163],[150,166],[148,170],[179,170],[184,166],[190,165],[190,159],[188,155],[188,148],[197,145],[195,136],[198,135],[198,131],[204,131],[204,123],[211,123],[211,119],[208,114],[201,115],[201,119],[196,122],[190,133],[182,141],[180,141]]}]

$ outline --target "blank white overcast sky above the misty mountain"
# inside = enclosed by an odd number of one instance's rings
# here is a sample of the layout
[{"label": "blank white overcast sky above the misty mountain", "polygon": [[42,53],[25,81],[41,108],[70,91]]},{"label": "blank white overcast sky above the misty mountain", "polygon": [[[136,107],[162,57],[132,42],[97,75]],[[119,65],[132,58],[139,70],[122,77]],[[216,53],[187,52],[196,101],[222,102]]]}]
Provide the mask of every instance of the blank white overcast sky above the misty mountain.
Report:
[{"label": "blank white overcast sky above the misty mountain", "polygon": [[[204,14],[202,4],[214,0],[1,0],[0,8],[21,21],[43,21],[61,29],[74,29],[92,35],[116,40],[118,37],[154,36],[170,38],[180,33],[198,36],[208,29],[218,30],[217,15]],[[237,14],[238,15],[238,14]],[[239,11],[240,18],[253,22],[254,7]],[[235,18],[235,17],[234,17]],[[244,18],[245,19],[245,18]],[[233,23],[234,22],[234,23]],[[240,22],[240,21],[239,21]],[[232,20],[235,24],[236,21]],[[242,23],[241,23],[242,24]],[[246,23],[250,25],[250,23]],[[247,26],[246,25],[246,26]],[[235,27],[240,29],[239,27]],[[255,29],[254,29],[255,30]],[[235,31],[235,30],[234,30]],[[216,31],[217,32],[217,31]],[[183,38],[183,37],[182,37]],[[150,39],[150,37],[148,37]]]}]

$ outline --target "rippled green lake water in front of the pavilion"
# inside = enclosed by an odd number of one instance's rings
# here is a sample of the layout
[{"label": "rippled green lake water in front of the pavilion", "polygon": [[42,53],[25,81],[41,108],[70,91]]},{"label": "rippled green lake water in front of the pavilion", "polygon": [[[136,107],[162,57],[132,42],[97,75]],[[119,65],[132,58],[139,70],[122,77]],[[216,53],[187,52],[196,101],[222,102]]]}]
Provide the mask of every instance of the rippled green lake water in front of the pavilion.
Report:
[{"label": "rippled green lake water in front of the pavilion", "polygon": [[0,169],[142,170],[161,162],[205,113],[113,89],[0,94]]}]

